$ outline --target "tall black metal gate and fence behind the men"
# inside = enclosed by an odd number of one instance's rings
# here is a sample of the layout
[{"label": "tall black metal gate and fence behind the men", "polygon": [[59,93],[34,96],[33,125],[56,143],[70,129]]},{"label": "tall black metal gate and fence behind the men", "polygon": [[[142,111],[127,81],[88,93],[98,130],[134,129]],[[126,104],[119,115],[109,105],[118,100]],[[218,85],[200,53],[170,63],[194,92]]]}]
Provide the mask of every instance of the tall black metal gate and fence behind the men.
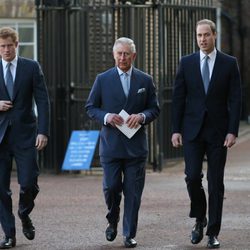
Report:
[{"label": "tall black metal gate and fence behind the men", "polygon": [[49,145],[41,155],[44,170],[60,171],[72,130],[98,129],[84,104],[97,73],[112,67],[112,46],[120,36],[137,47],[135,66],[154,77],[161,106],[148,127],[149,163],[161,169],[181,156],[172,148],[171,93],[179,59],[197,49],[195,24],[216,21],[212,0],[37,0],[39,61],[52,107]]}]

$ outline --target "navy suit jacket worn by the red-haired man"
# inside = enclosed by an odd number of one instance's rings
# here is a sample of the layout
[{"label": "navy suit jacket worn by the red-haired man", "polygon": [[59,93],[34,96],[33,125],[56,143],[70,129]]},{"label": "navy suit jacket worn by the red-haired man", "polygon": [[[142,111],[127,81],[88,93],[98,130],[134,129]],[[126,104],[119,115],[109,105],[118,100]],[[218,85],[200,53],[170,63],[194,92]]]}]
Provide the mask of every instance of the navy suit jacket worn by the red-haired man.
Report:
[{"label": "navy suit jacket worn by the red-haired man", "polygon": [[[0,61],[0,100],[10,100]],[[33,60],[18,57],[13,89],[13,108],[0,112],[0,143],[8,125],[16,143],[27,148],[35,146],[37,134],[49,135],[49,99],[40,65]],[[38,117],[34,112],[34,101]]]}]

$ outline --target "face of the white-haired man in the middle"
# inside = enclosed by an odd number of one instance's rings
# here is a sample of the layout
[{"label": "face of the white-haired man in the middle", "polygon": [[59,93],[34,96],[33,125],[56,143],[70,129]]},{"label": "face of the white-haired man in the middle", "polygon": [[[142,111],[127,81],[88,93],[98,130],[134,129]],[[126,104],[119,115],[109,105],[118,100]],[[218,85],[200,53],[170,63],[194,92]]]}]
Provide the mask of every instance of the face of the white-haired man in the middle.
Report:
[{"label": "face of the white-haired man in the middle", "polygon": [[136,53],[132,53],[130,47],[124,44],[118,44],[113,52],[115,65],[118,66],[123,72],[131,68],[135,60]]}]

